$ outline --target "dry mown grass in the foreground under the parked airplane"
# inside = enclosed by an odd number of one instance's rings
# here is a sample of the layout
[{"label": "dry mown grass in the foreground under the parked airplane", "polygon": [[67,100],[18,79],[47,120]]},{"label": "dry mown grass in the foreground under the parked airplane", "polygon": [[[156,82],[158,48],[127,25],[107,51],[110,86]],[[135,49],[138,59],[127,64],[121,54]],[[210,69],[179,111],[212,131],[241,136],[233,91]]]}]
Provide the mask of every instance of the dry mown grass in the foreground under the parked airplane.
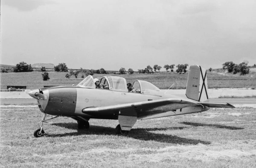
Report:
[{"label": "dry mown grass in the foreground under the parked airplane", "polygon": [[[195,167],[255,168],[256,109],[211,109],[168,118],[138,120],[117,136],[117,120],[56,118],[33,132],[42,113],[37,106],[0,106],[0,167]],[[49,118],[49,117],[48,117]]]}]

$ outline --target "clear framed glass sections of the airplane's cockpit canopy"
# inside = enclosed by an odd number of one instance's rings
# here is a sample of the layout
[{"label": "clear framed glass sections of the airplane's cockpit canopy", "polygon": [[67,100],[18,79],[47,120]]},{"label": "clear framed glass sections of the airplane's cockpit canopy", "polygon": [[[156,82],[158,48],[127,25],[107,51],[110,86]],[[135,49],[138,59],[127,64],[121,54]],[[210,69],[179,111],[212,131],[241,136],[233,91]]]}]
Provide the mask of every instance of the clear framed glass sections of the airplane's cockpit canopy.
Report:
[{"label": "clear framed glass sections of the airplane's cockpit canopy", "polygon": [[[104,76],[100,79],[100,83],[104,84],[104,88],[107,88],[108,90],[128,92],[126,80],[122,77]],[[96,88],[93,82],[93,77],[90,75],[84,78],[84,80],[81,81],[77,86],[86,88]],[[154,86],[154,84],[151,84],[147,81],[136,80],[134,81],[132,87],[134,87],[134,89],[136,90],[139,90],[140,94],[160,95],[160,89]]]}]

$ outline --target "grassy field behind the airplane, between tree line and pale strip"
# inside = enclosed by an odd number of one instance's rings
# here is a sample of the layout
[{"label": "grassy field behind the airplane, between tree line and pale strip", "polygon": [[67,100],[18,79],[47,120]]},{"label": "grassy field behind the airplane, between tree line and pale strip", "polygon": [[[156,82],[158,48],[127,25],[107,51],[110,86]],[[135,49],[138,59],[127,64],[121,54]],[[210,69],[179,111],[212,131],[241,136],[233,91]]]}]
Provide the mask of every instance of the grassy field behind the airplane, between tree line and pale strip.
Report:
[{"label": "grassy field behind the airplane, between tree line and pale strip", "polygon": [[[65,78],[66,73],[48,72],[50,80],[43,81],[41,72],[29,73],[0,73],[1,89],[6,89],[10,86],[27,86],[27,89],[42,88],[44,86],[60,86],[79,84],[83,80],[81,74],[76,79],[74,76]],[[140,74],[134,73],[132,75],[118,75],[118,74],[94,74],[93,78],[101,78],[106,75],[121,76],[127,82],[133,83],[136,79],[151,82],[160,89],[168,89],[173,85],[172,89],[185,89],[188,74],[177,74],[172,72],[160,72],[154,74]],[[208,72],[207,81],[209,88],[256,88],[256,76],[252,75],[239,76],[223,75],[217,72]]]}]

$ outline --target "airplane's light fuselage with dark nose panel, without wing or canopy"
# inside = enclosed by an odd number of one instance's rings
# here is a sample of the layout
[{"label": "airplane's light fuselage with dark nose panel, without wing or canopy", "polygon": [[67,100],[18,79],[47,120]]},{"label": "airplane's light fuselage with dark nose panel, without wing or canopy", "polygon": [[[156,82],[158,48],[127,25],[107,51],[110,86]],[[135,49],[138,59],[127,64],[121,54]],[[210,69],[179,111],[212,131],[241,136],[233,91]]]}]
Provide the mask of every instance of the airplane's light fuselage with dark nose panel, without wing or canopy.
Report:
[{"label": "airplane's light fuselage with dark nose panel, without wing or canopy", "polygon": [[[93,113],[85,114],[82,112],[85,108],[111,106],[117,104],[127,104],[142,101],[151,101],[164,98],[177,98],[171,94],[141,94],[134,92],[121,92],[105,89],[92,89],[83,87],[52,87],[42,88],[40,91],[47,96],[46,99],[38,99],[38,107],[41,112],[49,115],[60,116],[81,116],[84,118],[99,119],[117,119],[118,113],[104,113],[95,115]],[[35,91],[36,92],[36,91]],[[138,116],[140,119],[159,118],[171,115],[181,115],[192,112],[206,111],[207,109],[201,105],[186,107],[176,110],[176,112],[164,112],[154,116]]]}]

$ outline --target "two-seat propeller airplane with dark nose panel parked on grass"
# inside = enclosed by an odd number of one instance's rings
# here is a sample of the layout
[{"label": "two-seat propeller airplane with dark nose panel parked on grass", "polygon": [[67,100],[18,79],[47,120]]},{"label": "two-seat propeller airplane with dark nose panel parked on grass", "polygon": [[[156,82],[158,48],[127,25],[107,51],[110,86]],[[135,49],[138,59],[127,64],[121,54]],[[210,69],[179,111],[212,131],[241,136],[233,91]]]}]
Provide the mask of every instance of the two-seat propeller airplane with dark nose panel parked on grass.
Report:
[{"label": "two-seat propeller airplane with dark nose panel parked on grass", "polygon": [[[186,97],[160,90],[148,81],[135,80],[132,87],[140,92],[128,92],[125,78],[104,76],[101,84],[108,89],[97,89],[93,76],[87,76],[76,86],[55,86],[26,91],[37,99],[44,113],[34,136],[44,136],[42,128],[47,120],[70,117],[77,121],[78,129],[88,129],[89,120],[118,120],[116,134],[128,134],[137,120],[204,112],[211,107],[235,108],[231,104],[209,103],[207,72],[199,65],[189,67]],[[170,88],[169,88],[170,89]],[[53,115],[46,120],[46,116]]]}]

